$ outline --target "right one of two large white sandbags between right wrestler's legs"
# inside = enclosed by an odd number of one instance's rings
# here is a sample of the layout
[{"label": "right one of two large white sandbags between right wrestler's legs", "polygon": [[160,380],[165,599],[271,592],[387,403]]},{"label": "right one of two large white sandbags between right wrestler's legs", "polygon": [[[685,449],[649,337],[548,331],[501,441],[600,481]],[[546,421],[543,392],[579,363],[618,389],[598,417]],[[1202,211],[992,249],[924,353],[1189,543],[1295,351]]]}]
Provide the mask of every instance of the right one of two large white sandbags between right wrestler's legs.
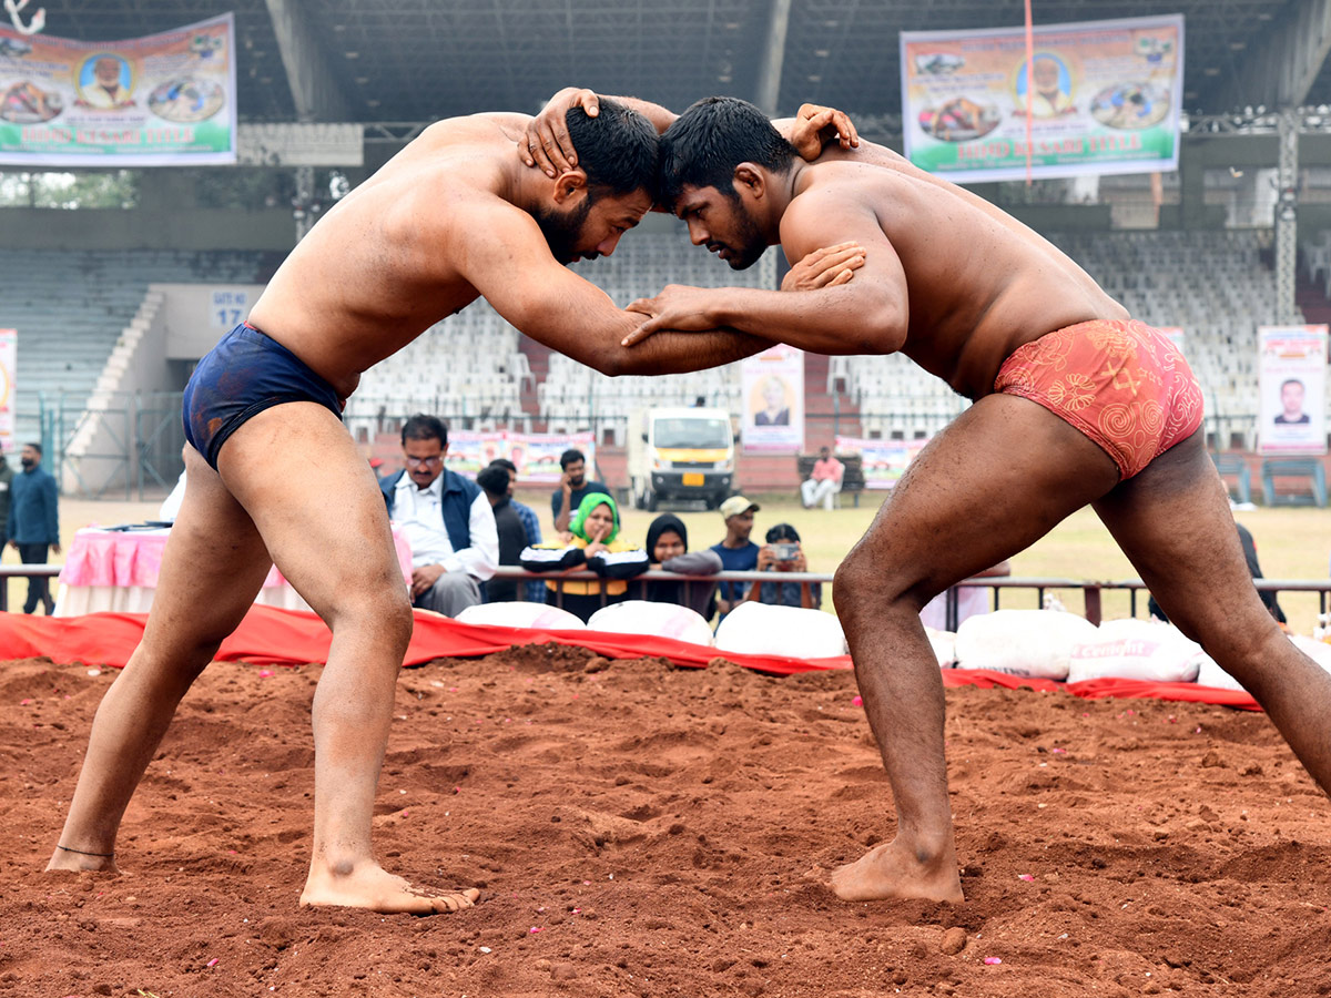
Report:
[{"label": "right one of two large white sandbags between right wrestler's legs", "polygon": [[1149,683],[1191,683],[1201,645],[1159,620],[1106,620],[1095,637],[1073,645],[1067,681],[1113,676]]}]

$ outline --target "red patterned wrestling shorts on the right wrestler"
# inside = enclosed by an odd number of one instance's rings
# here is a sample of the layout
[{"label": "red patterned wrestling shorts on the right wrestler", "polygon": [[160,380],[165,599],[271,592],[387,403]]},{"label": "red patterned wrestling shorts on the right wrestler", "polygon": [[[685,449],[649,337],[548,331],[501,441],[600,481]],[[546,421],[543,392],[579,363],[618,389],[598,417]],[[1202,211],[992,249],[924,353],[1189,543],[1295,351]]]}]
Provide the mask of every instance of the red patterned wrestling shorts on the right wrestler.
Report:
[{"label": "red patterned wrestling shorts on the right wrestler", "polygon": [[994,391],[1030,399],[1094,440],[1129,479],[1202,424],[1202,387],[1145,322],[1093,319],[1017,347]]}]

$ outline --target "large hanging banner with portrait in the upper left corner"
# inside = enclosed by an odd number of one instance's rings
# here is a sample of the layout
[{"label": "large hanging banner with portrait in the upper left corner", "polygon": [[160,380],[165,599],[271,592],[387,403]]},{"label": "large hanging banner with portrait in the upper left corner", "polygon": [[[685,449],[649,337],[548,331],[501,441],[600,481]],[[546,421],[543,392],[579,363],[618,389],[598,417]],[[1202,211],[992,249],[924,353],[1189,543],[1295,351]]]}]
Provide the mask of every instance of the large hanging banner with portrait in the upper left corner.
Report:
[{"label": "large hanging banner with portrait in the upper left corner", "polygon": [[236,162],[233,15],[122,41],[0,27],[0,164]]}]

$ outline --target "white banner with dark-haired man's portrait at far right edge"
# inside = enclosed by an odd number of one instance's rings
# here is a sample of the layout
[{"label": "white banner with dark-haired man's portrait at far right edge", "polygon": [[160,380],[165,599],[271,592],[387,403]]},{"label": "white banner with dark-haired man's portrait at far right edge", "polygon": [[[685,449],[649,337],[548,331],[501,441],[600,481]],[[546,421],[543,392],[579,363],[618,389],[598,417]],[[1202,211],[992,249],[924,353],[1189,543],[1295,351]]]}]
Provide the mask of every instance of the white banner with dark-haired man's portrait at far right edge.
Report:
[{"label": "white banner with dark-haired man's portrait at far right edge", "polygon": [[1327,452],[1327,327],[1259,326],[1258,452]]}]

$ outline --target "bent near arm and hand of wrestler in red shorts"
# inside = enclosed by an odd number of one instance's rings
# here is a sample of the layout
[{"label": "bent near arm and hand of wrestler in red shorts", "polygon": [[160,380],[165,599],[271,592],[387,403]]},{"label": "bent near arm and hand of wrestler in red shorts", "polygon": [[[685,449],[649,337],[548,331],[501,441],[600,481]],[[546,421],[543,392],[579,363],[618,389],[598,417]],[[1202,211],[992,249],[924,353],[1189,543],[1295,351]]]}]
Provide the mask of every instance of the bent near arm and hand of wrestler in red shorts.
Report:
[{"label": "bent near arm and hand of wrestler in red shorts", "polygon": [[[819,354],[889,354],[905,343],[909,323],[905,271],[872,208],[833,189],[811,190],[781,218],[781,244],[791,259],[844,240],[862,248],[853,281],[811,290],[683,287],[628,306],[652,318],[630,337],[650,343],[658,329],[761,330],[763,335]],[[638,349],[635,346],[634,349]]]}]

